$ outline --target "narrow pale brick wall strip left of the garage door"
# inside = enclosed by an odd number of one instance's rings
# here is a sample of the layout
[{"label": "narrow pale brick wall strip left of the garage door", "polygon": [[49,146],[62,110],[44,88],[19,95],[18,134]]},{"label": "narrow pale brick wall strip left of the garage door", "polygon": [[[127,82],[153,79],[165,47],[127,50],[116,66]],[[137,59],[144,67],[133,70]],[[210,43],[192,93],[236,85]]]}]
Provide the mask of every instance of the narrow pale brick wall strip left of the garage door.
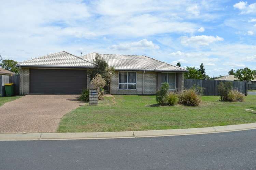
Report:
[{"label": "narrow pale brick wall strip left of the garage door", "polygon": [[23,95],[29,94],[29,68],[22,68],[20,70],[20,79],[19,79],[19,94],[22,95],[22,79],[23,79]]}]

